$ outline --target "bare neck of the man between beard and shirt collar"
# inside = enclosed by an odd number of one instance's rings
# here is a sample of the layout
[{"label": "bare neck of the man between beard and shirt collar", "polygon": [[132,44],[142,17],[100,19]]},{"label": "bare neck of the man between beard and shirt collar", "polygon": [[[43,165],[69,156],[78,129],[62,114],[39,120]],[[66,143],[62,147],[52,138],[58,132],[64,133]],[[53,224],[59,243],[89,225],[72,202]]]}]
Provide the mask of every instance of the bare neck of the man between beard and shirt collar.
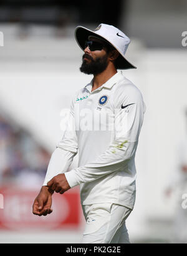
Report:
[{"label": "bare neck of the man between beard and shirt collar", "polygon": [[93,76],[92,91],[105,84],[112,76],[117,73],[117,70],[113,65],[108,64],[107,68],[100,74]]}]

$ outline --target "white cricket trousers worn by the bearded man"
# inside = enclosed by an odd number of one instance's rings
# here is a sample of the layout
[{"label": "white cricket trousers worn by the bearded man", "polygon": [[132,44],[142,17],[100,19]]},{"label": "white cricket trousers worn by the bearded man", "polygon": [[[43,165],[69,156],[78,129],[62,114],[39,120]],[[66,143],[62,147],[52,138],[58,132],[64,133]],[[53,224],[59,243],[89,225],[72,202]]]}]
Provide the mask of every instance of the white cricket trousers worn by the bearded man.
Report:
[{"label": "white cricket trousers worn by the bearded man", "polygon": [[125,220],[131,209],[117,204],[82,205],[86,225],[83,244],[129,244]]}]

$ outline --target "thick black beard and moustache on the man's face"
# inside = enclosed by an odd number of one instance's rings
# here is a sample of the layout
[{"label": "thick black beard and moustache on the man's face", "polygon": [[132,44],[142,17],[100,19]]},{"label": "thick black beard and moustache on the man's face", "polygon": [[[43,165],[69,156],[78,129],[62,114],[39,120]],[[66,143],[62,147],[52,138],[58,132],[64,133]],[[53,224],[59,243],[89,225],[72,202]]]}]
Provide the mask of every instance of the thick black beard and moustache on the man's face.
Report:
[{"label": "thick black beard and moustache on the man's face", "polygon": [[[87,59],[90,59],[90,62],[87,62],[84,59],[84,57],[87,57]],[[80,67],[80,72],[83,72],[88,75],[100,74],[108,66],[107,57],[108,57],[107,54],[105,54],[105,56],[103,56],[103,57],[97,57],[94,61],[93,58],[89,54],[85,53],[82,56],[82,59],[84,59],[84,60],[82,61],[82,65]]]}]

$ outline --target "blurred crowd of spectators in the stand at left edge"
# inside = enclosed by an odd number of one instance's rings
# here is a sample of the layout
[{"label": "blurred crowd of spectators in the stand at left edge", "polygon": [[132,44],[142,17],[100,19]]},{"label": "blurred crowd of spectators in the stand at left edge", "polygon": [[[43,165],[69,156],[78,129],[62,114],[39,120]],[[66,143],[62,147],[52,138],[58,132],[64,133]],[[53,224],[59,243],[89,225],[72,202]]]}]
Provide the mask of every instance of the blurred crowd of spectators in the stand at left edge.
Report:
[{"label": "blurred crowd of spectators in the stand at left edge", "polygon": [[49,159],[50,153],[27,130],[0,113],[0,185],[15,180],[26,187],[41,184]]}]

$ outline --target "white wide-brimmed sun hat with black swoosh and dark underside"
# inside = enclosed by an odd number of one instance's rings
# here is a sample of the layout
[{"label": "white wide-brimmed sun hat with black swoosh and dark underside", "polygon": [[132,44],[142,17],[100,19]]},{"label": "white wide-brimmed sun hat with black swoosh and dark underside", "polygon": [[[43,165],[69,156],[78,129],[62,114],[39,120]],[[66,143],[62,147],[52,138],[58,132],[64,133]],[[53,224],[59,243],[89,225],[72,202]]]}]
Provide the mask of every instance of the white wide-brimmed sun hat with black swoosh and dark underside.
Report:
[{"label": "white wide-brimmed sun hat with black swoosh and dark underside", "polygon": [[86,27],[78,26],[75,28],[75,39],[80,48],[84,51],[85,41],[89,36],[97,36],[100,39],[104,39],[111,44],[120,55],[115,61],[117,69],[136,69],[127,59],[125,59],[125,52],[127,51],[130,39],[120,29],[108,24],[100,24],[94,31],[87,29]]}]

